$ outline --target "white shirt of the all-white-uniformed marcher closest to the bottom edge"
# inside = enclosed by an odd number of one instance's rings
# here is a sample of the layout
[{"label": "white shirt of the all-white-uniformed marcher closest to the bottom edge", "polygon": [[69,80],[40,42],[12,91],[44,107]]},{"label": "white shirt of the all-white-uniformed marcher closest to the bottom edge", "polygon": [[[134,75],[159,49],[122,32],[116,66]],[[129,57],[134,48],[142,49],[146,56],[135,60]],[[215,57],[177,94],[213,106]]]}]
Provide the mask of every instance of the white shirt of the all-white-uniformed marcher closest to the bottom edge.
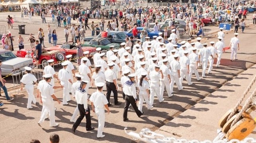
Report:
[{"label": "white shirt of the all-white-uniformed marcher closest to the bottom edge", "polygon": [[96,109],[104,109],[104,105],[108,103],[106,96],[99,91],[92,93],[89,100],[93,102]]}]

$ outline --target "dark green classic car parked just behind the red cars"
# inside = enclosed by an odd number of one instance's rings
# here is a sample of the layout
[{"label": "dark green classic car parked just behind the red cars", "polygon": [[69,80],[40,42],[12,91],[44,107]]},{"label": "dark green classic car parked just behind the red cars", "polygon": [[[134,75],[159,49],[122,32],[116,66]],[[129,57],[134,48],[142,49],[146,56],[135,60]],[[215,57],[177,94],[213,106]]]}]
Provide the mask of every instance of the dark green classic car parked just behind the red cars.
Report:
[{"label": "dark green classic car parked just behind the red cars", "polygon": [[119,44],[111,43],[107,38],[93,38],[90,42],[84,42],[82,46],[91,46],[91,47],[100,47],[102,50],[107,50],[110,46],[114,46],[114,48],[119,48]]}]

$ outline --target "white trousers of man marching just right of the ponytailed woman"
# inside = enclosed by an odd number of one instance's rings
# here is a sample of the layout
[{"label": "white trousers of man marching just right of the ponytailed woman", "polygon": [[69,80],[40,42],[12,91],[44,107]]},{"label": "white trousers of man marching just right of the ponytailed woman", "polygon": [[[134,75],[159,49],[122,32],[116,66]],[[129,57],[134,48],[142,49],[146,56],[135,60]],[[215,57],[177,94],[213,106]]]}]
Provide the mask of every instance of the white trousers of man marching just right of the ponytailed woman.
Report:
[{"label": "white trousers of man marching just right of the ponytailed woman", "polygon": [[154,104],[154,95],[158,98],[159,102],[162,102],[164,99],[160,95],[160,86],[159,82],[152,82],[150,83],[150,95],[149,95],[149,103],[150,105]]}]

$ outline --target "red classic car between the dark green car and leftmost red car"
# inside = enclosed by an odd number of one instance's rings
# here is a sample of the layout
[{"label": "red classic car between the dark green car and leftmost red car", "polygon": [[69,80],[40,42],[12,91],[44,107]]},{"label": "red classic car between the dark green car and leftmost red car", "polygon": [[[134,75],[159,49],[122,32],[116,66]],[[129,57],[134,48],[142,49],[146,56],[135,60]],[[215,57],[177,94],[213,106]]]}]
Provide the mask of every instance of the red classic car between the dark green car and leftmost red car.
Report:
[{"label": "red classic car between the dark green car and leftmost red car", "polygon": [[[47,51],[59,50],[62,53],[64,53],[65,55],[72,55],[72,59],[73,59],[72,61],[74,61],[75,63],[77,61],[76,46],[72,45],[71,42],[68,42],[68,44],[62,44],[62,45],[57,45],[57,46],[53,46],[50,48],[45,48],[45,50],[47,50]],[[88,58],[91,58],[92,55],[94,55],[96,48],[90,47],[90,46],[83,46],[82,50],[89,51],[90,56],[88,56]]]}]

